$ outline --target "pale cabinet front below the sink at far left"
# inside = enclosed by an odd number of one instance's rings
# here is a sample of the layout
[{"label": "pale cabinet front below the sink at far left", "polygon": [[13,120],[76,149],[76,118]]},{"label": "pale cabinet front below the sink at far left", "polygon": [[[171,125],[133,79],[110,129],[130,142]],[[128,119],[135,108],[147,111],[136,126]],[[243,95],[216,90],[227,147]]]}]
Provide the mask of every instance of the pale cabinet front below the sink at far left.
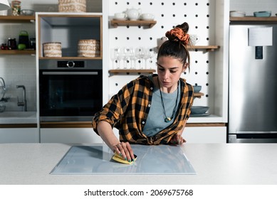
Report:
[{"label": "pale cabinet front below the sink at far left", "polygon": [[38,143],[38,128],[1,128],[0,143]]}]

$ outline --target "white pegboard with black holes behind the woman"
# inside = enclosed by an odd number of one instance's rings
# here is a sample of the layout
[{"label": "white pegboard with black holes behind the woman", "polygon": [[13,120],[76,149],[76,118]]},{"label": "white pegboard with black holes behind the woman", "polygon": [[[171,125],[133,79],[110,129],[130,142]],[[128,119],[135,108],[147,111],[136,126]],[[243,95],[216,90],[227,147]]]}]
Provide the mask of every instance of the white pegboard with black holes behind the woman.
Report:
[{"label": "white pegboard with black holes behind the woman", "polygon": [[[197,45],[216,45],[215,33],[215,12],[216,0],[110,0],[109,18],[112,19],[115,13],[127,11],[127,9],[141,9],[142,13],[155,15],[157,23],[152,28],[144,26],[109,26],[109,49],[115,47],[146,47],[156,48],[160,38],[166,31],[174,28],[183,22],[189,23],[189,33],[197,34],[200,37]],[[211,90],[214,87],[214,52],[206,50],[190,51],[191,68],[186,75],[182,75],[192,85],[202,85],[204,97],[194,100],[196,105],[209,105]],[[156,58],[152,58],[152,65],[148,68],[157,68]],[[138,64],[138,63],[137,63]],[[113,68],[110,60],[109,68]],[[119,90],[137,75],[111,75],[110,95]]]}]

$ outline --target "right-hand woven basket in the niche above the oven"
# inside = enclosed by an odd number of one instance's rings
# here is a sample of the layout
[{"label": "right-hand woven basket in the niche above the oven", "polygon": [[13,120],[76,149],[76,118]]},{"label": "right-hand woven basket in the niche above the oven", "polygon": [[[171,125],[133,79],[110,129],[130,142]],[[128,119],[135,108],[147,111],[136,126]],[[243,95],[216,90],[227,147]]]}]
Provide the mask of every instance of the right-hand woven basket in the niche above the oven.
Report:
[{"label": "right-hand woven basket in the niche above the oven", "polygon": [[100,41],[83,39],[78,42],[78,57],[100,57]]}]

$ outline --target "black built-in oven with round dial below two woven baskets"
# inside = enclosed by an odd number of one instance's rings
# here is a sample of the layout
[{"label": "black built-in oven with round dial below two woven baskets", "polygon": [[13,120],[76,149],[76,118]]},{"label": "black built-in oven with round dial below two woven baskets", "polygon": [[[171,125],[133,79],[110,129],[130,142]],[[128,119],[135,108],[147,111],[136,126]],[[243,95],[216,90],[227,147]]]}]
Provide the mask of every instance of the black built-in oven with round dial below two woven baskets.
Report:
[{"label": "black built-in oven with round dial below two woven baskets", "polygon": [[41,122],[91,121],[103,106],[100,63],[44,60],[39,67]]}]

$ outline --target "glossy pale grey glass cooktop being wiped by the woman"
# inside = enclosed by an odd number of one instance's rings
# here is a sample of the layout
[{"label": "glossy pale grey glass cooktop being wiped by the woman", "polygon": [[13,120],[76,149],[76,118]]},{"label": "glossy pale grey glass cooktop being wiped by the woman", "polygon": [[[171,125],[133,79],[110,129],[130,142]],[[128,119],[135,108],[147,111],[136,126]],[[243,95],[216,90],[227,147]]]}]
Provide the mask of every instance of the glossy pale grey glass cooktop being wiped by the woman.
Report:
[{"label": "glossy pale grey glass cooktop being wiped by the woman", "polygon": [[106,145],[72,146],[51,174],[196,174],[180,146],[132,145],[137,160],[132,164],[112,159]]}]

